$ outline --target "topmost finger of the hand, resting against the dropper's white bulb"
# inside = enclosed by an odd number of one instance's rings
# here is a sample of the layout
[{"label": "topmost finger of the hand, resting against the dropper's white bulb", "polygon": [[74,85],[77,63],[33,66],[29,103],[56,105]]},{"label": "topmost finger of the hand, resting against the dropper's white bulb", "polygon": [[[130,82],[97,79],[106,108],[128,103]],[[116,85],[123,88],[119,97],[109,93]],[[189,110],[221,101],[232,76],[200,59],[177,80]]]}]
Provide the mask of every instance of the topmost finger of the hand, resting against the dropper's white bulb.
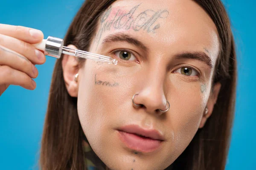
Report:
[{"label": "topmost finger of the hand, resting against the dropper's white bulb", "polygon": [[44,39],[44,34],[40,30],[7,24],[0,24],[0,34],[14,37],[30,44],[36,44]]}]

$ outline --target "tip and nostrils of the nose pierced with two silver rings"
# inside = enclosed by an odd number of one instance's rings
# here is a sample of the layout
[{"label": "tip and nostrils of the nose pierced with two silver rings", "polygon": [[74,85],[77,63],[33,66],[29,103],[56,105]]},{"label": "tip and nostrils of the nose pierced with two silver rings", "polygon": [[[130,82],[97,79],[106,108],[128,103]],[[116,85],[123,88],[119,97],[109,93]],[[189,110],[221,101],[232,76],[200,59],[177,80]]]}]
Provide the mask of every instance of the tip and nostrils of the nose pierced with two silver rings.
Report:
[{"label": "tip and nostrils of the nose pierced with two silver rings", "polygon": [[163,91],[163,84],[160,82],[149,83],[134,95],[133,102],[136,108],[143,108],[148,113],[161,115],[165,113],[170,105],[167,102]]}]

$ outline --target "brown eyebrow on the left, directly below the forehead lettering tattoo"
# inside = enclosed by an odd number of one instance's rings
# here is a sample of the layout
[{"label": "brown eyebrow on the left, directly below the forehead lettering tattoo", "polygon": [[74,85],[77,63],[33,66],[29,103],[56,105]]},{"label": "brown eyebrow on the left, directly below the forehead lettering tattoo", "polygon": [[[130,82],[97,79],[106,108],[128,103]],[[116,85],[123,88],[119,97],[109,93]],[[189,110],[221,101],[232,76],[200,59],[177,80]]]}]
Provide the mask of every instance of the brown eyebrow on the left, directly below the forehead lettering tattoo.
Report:
[{"label": "brown eyebrow on the left, directly below the forehead lettering tattoo", "polygon": [[144,51],[148,51],[148,47],[146,47],[146,45],[144,45],[143,42],[137,40],[137,38],[131,37],[130,35],[124,33],[109,34],[107,37],[104,38],[104,40],[102,40],[102,44],[107,42],[128,42],[135,46],[139,46]]}]

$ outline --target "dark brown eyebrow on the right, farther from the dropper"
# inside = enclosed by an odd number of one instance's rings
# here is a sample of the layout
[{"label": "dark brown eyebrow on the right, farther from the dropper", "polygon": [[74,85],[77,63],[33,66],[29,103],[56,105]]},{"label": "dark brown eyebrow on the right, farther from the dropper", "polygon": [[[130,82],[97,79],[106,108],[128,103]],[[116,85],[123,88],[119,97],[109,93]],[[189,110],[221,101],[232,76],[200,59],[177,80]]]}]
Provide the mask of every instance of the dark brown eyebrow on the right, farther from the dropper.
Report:
[{"label": "dark brown eyebrow on the right, farther from the dropper", "polygon": [[213,67],[213,61],[205,52],[185,52],[182,54],[176,54],[173,59],[196,59],[207,64],[210,68]]}]

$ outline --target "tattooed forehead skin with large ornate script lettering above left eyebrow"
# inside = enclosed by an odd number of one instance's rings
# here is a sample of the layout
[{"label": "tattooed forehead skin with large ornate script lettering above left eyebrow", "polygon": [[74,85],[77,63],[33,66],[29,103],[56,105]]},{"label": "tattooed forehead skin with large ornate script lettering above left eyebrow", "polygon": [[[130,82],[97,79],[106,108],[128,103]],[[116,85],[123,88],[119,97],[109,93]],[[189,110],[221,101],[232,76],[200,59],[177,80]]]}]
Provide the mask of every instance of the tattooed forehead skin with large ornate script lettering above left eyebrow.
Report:
[{"label": "tattooed forehead skin with large ornate script lettering above left eyebrow", "polygon": [[112,6],[110,6],[110,8],[108,8],[100,18],[99,32],[96,34],[93,42],[97,43],[96,49],[99,45],[102,34],[105,31],[110,31],[111,28],[134,31],[143,30],[154,34],[156,33],[156,30],[160,28],[160,24],[157,23],[157,21],[164,19],[169,15],[169,11],[167,10],[153,11],[151,9],[147,9],[136,16],[134,13],[137,11],[139,6],[140,4],[134,6],[134,8],[128,12],[125,12],[122,9],[113,9]]}]

